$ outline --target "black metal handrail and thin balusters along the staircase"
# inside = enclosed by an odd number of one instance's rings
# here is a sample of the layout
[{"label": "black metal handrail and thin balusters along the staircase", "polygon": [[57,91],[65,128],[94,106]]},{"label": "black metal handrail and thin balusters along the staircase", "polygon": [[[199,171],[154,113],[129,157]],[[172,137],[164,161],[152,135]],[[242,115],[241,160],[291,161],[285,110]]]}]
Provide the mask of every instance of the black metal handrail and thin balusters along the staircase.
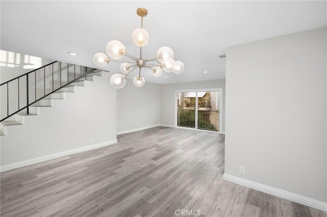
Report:
[{"label": "black metal handrail and thin balusters along the staircase", "polygon": [[[57,62],[58,61],[54,61],[52,63],[46,64],[46,65],[44,65],[44,66],[42,66],[40,68],[34,69],[34,70],[30,71],[30,72],[27,72],[25,74],[19,75],[19,76],[15,77],[15,78],[13,78],[11,80],[8,80],[7,82],[5,82],[5,83],[3,83],[3,84],[0,85],[0,86],[2,86],[2,85],[6,85],[7,84],[7,116],[4,117],[4,118],[2,118],[0,120],[0,122],[6,120],[7,118],[9,118],[9,117],[17,114],[18,112],[20,112],[22,110],[25,110],[25,109],[26,109],[27,114],[29,114],[29,106],[31,106],[32,104],[34,104],[34,103],[38,102],[39,100],[41,100],[41,99],[43,99],[43,98],[45,98],[45,97],[47,97],[47,96],[49,96],[49,95],[57,92],[61,88],[64,88],[64,87],[66,87],[67,85],[69,85],[71,83],[77,82],[77,80],[80,79],[80,78],[85,77],[85,80],[87,80],[87,75],[89,73],[94,73],[97,70],[99,70],[99,69],[90,68],[90,67],[86,67],[86,66],[78,66],[78,65],[75,65],[75,64],[65,63],[65,64],[67,64],[67,66],[66,66],[67,67],[67,70],[65,70],[66,68],[64,68],[64,70],[67,73],[67,77],[66,77],[67,78],[67,81],[65,81],[65,80],[62,81],[62,73],[63,73],[63,70],[62,70],[62,67],[61,67],[61,62],[58,62],[59,63],[59,70],[56,71],[55,73],[58,76],[60,76],[60,79],[57,80],[57,82],[60,82],[60,83],[59,83],[59,85],[56,85],[56,89],[55,89],[54,88],[54,82],[55,82],[55,79],[54,79],[54,64],[57,63]],[[46,90],[46,86],[45,86],[45,83],[46,83],[45,69],[46,69],[46,67],[48,67],[50,65],[52,65],[52,80],[50,80],[52,86],[50,85],[50,87],[47,87],[48,90],[50,89],[49,90],[50,92],[48,92],[48,91],[46,92],[45,91]],[[74,66],[74,69],[71,70],[71,71],[69,71],[69,66],[71,66],[71,67]],[[80,72],[76,72],[76,67],[80,67]],[[44,69],[44,70],[43,71],[38,71],[40,69]],[[43,74],[42,80],[44,80],[43,81],[44,84],[42,85],[43,86],[42,88],[44,88],[44,90],[42,91],[43,93],[41,94],[41,96],[39,98],[37,98],[37,88],[36,88],[37,87],[37,82],[36,82],[37,71],[38,71],[38,73],[42,73]],[[105,70],[100,70],[100,71],[105,71]],[[29,82],[29,74],[30,73],[33,73],[33,72],[35,73],[35,78],[32,79],[32,80],[34,80],[35,83],[30,84],[30,82]],[[51,72],[51,67],[50,67],[50,72]],[[74,78],[72,80],[69,80],[69,74],[72,74],[72,73],[74,73]],[[77,76],[77,75],[79,75],[79,76]],[[20,107],[20,104],[19,104],[19,96],[20,96],[20,91],[19,91],[19,78],[24,77],[24,76],[26,76],[26,106]],[[49,79],[49,77],[47,79]],[[9,114],[9,88],[8,87],[9,87],[9,83],[10,82],[13,82],[14,80],[18,80],[18,109],[17,110],[15,109],[16,110],[15,112]],[[64,82],[64,84],[62,84],[62,82]],[[32,96],[32,98],[34,98],[33,100],[30,100],[30,94],[29,94],[30,86],[32,86],[32,88],[35,90],[35,98]],[[34,88],[34,86],[35,86],[35,88]],[[16,97],[16,96],[14,95],[14,97]],[[11,101],[15,101],[15,100],[11,100]],[[14,107],[16,107],[16,105],[14,105]]]}]

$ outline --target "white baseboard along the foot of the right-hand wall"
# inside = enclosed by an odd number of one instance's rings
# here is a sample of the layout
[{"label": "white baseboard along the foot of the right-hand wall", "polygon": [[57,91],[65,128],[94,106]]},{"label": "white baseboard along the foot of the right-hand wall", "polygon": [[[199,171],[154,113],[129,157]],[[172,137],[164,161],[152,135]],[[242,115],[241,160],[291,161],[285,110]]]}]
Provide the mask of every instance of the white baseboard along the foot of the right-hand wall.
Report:
[{"label": "white baseboard along the foot of the right-hand wall", "polygon": [[224,177],[224,180],[226,180],[226,181],[240,184],[240,185],[258,190],[260,192],[264,192],[264,193],[267,193],[270,195],[274,195],[276,197],[284,198],[286,200],[290,200],[295,203],[303,204],[303,205],[310,206],[312,208],[327,212],[327,203],[317,201],[317,200],[314,200],[311,198],[303,197],[301,195],[293,194],[291,192],[286,192],[286,191],[283,191],[282,189],[278,189],[278,188],[270,187],[270,186],[260,184],[257,182],[242,179],[242,178],[239,178],[236,176],[231,176],[226,173],[224,173],[223,177]]}]

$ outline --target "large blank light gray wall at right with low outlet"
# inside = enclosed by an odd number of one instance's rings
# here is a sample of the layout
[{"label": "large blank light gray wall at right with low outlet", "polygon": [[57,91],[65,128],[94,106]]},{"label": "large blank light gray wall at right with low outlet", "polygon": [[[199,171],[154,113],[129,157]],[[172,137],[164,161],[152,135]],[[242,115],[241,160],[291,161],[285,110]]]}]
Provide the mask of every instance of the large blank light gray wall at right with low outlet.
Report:
[{"label": "large blank light gray wall at right with low outlet", "polygon": [[326,37],[227,48],[226,174],[327,202]]}]

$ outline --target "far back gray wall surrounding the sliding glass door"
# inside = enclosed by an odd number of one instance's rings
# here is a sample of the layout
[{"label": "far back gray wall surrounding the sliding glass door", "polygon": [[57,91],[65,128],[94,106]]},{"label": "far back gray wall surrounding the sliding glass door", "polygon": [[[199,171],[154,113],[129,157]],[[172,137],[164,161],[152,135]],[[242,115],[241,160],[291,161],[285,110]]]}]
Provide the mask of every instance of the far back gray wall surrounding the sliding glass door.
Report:
[{"label": "far back gray wall surrounding the sliding glass door", "polygon": [[223,89],[222,132],[224,132],[225,131],[225,79],[162,85],[161,86],[161,124],[174,126],[176,90],[206,89],[206,88]]}]

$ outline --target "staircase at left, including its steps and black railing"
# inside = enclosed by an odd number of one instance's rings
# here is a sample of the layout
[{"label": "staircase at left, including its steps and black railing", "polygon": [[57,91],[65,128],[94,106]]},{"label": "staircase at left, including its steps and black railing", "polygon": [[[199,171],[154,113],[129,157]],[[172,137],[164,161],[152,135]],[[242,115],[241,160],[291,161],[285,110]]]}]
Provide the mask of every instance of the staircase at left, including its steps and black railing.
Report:
[{"label": "staircase at left, including its steps and black railing", "polygon": [[24,124],[26,116],[38,115],[39,107],[51,107],[55,100],[65,99],[66,93],[75,93],[77,86],[94,82],[103,71],[55,61],[0,84],[0,135]]}]

